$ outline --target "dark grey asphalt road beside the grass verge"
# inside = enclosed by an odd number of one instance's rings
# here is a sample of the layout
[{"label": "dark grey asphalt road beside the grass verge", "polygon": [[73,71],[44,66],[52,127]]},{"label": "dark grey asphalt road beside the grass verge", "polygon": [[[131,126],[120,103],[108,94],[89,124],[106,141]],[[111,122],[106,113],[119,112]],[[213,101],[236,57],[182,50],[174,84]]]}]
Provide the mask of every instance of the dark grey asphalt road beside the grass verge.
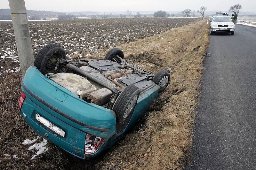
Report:
[{"label": "dark grey asphalt road beside the grass verge", "polygon": [[256,28],[210,35],[185,169],[256,169]]}]

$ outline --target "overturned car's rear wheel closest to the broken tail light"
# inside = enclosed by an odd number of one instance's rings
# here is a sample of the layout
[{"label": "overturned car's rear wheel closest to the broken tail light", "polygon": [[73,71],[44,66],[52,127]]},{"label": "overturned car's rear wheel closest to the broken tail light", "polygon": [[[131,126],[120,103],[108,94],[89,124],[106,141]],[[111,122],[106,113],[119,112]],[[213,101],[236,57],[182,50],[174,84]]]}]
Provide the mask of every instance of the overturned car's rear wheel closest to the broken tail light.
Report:
[{"label": "overturned car's rear wheel closest to the broken tail light", "polygon": [[116,113],[116,133],[120,134],[127,127],[140,96],[140,89],[130,84],[117,97],[112,110]]}]

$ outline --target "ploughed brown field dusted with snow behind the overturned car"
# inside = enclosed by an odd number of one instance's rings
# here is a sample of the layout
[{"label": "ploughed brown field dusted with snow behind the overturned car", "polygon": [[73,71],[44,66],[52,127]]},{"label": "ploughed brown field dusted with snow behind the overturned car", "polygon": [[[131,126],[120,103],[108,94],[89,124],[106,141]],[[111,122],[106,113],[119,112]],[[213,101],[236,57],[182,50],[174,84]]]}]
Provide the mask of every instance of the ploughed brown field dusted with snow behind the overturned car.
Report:
[{"label": "ploughed brown field dusted with snow behind the overturned car", "polygon": [[[181,27],[196,18],[83,19],[29,22],[34,56],[46,44],[58,43],[67,58],[91,56],[120,44]],[[0,22],[0,71],[18,66],[12,22]],[[10,63],[11,62],[11,63]]]}]

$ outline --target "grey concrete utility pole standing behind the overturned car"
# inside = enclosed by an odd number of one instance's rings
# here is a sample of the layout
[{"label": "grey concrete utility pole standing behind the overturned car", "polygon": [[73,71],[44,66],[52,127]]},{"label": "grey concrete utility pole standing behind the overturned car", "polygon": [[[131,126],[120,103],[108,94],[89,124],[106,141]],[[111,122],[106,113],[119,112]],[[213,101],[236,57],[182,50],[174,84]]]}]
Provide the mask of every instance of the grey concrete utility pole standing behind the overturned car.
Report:
[{"label": "grey concrete utility pole standing behind the overturned car", "polygon": [[28,67],[34,65],[27,11],[24,0],[9,0],[9,5],[20,60],[20,68],[23,76]]}]

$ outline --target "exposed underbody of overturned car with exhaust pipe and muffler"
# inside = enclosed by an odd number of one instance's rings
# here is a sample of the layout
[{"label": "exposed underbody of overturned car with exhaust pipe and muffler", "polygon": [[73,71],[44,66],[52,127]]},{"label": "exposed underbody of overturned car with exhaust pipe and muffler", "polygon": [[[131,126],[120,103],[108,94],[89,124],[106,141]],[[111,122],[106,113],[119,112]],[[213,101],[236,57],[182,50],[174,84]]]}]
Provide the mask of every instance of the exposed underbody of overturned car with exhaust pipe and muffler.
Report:
[{"label": "exposed underbody of overturned car with exhaust pipe and muffler", "polygon": [[[130,84],[140,91],[154,85],[154,74],[142,70],[124,59],[121,63],[107,59],[71,60],[58,59],[59,73],[47,73],[52,79],[87,103],[112,109],[116,98]],[[84,78],[86,77],[86,78]]]}]

